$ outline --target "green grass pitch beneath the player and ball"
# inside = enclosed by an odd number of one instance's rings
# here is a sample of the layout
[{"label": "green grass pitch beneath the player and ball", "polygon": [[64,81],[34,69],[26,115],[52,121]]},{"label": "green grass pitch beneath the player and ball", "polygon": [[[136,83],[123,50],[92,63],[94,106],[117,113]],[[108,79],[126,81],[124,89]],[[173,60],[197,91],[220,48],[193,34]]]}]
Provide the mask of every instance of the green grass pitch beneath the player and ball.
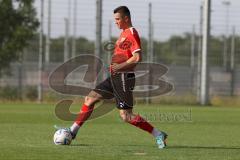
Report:
[{"label": "green grass pitch beneath the player and ball", "polygon": [[[123,123],[115,109],[87,122],[70,146],[53,144],[54,104],[0,104],[0,160],[239,160],[240,108],[137,105],[136,112],[169,134],[159,150],[151,135]],[[73,106],[77,111],[79,106]],[[159,119],[157,115],[191,115]],[[155,117],[153,116],[155,115]],[[157,117],[157,118],[156,118]],[[188,117],[189,118],[189,117]]]}]

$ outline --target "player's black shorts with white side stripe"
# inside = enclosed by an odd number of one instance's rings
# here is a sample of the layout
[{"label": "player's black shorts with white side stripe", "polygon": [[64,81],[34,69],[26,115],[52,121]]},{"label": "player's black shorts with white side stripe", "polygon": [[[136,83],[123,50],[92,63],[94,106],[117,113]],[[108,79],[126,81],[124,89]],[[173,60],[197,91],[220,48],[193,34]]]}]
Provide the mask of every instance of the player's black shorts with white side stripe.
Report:
[{"label": "player's black shorts with white side stripe", "polygon": [[104,99],[115,98],[118,109],[131,109],[134,86],[134,73],[117,73],[98,84],[94,91]]}]

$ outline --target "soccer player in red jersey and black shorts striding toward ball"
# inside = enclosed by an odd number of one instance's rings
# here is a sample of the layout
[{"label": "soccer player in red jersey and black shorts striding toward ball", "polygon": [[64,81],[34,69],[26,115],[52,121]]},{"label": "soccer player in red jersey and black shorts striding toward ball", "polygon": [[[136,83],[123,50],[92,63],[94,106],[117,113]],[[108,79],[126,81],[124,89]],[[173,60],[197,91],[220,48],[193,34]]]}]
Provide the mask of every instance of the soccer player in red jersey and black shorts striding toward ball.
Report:
[{"label": "soccer player in red jersey and black shorts striding toward ball", "polygon": [[158,147],[164,148],[166,147],[167,134],[153,127],[140,115],[133,113],[134,68],[141,61],[142,53],[140,38],[132,26],[129,9],[126,6],[116,8],[114,19],[122,33],[115,44],[110,66],[111,76],[98,84],[85,97],[81,111],[69,130],[74,139],[79,128],[93,112],[94,104],[101,99],[115,98],[122,120],[150,133],[155,137]]}]

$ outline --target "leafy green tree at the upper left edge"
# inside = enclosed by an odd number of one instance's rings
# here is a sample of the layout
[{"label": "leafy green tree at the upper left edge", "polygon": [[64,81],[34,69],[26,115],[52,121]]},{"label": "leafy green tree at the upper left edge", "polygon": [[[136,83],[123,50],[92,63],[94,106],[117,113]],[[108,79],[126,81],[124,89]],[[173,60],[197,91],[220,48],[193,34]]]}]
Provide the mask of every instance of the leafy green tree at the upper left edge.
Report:
[{"label": "leafy green tree at the upper left edge", "polygon": [[39,25],[33,0],[0,1],[0,71],[17,60]]}]

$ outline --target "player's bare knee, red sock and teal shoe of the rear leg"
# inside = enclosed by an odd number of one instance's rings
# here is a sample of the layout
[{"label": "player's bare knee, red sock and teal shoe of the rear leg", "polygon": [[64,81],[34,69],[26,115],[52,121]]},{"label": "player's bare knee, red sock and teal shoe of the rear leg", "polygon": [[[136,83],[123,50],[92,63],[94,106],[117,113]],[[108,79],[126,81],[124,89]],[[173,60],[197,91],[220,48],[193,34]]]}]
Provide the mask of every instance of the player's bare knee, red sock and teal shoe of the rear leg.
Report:
[{"label": "player's bare knee, red sock and teal shoe of the rear leg", "polygon": [[134,114],[132,109],[121,109],[119,110],[119,113],[124,122],[136,126],[153,135],[156,138],[159,148],[166,147],[167,134],[165,132],[159,131],[157,128],[153,127],[152,124],[147,122],[140,115]]}]

